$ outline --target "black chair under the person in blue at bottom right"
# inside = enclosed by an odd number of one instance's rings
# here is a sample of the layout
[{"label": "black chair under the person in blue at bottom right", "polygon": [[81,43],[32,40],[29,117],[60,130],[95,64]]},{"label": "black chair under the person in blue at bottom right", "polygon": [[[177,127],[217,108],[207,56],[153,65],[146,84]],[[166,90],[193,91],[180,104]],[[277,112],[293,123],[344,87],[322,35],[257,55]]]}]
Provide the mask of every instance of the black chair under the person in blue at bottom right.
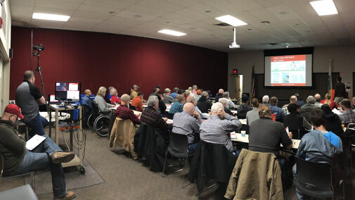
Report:
[{"label": "black chair under the person in blue at bottom right", "polygon": [[[296,165],[297,171],[293,184],[299,192],[314,198],[334,197],[332,165],[305,161],[298,157],[296,157]],[[344,182],[342,185],[344,199]]]}]

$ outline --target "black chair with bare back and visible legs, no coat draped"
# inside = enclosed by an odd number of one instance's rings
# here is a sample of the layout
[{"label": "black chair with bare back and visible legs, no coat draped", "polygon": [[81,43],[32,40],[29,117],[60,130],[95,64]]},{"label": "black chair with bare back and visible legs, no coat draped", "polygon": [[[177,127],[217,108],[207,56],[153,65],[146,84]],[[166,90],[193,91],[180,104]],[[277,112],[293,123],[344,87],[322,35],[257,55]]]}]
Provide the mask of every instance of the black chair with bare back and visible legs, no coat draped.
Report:
[{"label": "black chair with bare back and visible legs, no coat draped", "polygon": [[[165,173],[165,168],[167,167],[167,171],[168,171],[167,175],[169,175],[167,154],[170,154],[171,156],[179,159],[185,158],[185,162],[184,162],[185,164],[183,165],[183,168],[180,168],[179,170],[173,172],[173,173],[178,173],[183,170],[183,180],[184,180],[185,173],[186,173],[186,165],[188,162],[188,137],[186,135],[181,135],[169,131],[169,146],[167,147],[167,152],[165,153],[164,168],[162,170],[163,173]],[[167,177],[167,175],[164,175],[163,177]],[[182,187],[184,187],[183,180],[182,180]]]}]

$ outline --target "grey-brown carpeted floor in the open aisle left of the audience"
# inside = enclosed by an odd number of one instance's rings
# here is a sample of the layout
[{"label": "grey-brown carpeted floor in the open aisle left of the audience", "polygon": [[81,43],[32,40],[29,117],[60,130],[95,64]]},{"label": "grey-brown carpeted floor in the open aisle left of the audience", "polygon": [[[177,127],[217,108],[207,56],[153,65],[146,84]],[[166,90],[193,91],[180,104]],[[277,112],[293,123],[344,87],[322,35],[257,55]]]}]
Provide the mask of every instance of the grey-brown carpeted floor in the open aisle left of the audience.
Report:
[{"label": "grey-brown carpeted floor in the open aisle left of the audience", "polygon": [[[64,144],[61,136],[60,140],[60,143]],[[108,138],[98,137],[91,131],[87,132],[85,159],[105,182],[74,189],[77,193],[76,199],[223,199],[224,192],[217,187],[202,192],[199,197],[195,196],[197,191],[194,184],[181,188],[183,173],[163,178],[162,173],[151,172],[143,163],[133,161],[127,154],[112,152],[108,146]],[[72,170],[70,173],[79,175],[79,172]],[[65,173],[68,182],[70,182],[70,173]],[[1,181],[0,191],[18,187],[23,183],[24,178]],[[354,189],[350,190],[354,191]],[[39,199],[53,199],[52,193],[37,192],[37,194]],[[290,189],[286,191],[285,196],[288,196],[285,199],[297,199],[295,194],[290,194]]]}]

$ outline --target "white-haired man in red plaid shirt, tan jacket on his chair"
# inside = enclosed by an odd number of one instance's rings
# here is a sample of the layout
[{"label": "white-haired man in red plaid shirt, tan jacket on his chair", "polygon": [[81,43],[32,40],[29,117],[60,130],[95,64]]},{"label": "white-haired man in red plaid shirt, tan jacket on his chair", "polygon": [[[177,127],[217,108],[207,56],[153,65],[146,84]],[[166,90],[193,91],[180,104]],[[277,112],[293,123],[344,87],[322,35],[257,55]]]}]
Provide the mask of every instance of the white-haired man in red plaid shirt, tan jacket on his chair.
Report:
[{"label": "white-haired man in red plaid shirt, tan jacket on his chair", "polygon": [[138,118],[138,115],[135,115],[134,112],[129,109],[129,101],[131,97],[128,94],[123,94],[121,96],[121,106],[118,106],[116,110],[116,117],[121,118],[122,120],[130,119],[134,124],[141,123],[141,120]]}]

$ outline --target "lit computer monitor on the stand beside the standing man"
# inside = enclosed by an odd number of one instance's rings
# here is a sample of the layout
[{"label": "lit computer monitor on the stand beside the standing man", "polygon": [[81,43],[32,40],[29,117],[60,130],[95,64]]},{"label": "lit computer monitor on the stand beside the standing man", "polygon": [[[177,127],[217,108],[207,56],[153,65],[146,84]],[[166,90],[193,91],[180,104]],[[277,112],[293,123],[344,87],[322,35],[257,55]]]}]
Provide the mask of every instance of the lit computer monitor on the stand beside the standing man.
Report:
[{"label": "lit computer monitor on the stand beside the standing man", "polygon": [[63,101],[80,101],[81,83],[77,81],[57,81],[56,98]]}]

